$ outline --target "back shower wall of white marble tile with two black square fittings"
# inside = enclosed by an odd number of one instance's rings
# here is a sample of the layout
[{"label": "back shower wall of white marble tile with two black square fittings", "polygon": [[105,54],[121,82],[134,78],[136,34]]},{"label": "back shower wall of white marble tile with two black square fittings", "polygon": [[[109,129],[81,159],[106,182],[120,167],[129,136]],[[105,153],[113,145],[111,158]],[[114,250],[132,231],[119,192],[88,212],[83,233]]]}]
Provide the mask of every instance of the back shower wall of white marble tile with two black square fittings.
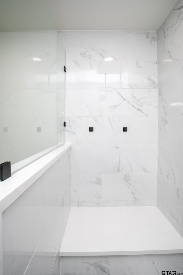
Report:
[{"label": "back shower wall of white marble tile with two black square fittings", "polygon": [[62,33],[61,38],[71,205],[156,205],[156,34]]}]

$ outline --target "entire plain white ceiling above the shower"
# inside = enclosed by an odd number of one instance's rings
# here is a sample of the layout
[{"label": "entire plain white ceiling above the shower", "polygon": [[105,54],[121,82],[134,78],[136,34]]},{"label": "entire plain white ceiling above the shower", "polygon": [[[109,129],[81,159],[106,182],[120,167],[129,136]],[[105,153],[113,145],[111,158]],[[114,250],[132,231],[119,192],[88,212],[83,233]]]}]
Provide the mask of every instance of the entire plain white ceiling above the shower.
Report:
[{"label": "entire plain white ceiling above the shower", "polygon": [[156,31],[177,0],[0,0],[0,30]]}]

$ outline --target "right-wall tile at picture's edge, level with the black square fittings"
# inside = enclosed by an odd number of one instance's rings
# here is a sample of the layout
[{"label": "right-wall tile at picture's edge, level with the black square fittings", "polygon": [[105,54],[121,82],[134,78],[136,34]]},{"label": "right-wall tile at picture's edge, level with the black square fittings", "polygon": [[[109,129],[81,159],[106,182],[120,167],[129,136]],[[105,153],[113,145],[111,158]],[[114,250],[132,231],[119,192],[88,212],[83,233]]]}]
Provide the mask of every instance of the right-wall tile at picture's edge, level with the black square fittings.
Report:
[{"label": "right-wall tile at picture's edge, level with the black square fittings", "polygon": [[183,113],[168,116],[168,147],[183,151]]}]

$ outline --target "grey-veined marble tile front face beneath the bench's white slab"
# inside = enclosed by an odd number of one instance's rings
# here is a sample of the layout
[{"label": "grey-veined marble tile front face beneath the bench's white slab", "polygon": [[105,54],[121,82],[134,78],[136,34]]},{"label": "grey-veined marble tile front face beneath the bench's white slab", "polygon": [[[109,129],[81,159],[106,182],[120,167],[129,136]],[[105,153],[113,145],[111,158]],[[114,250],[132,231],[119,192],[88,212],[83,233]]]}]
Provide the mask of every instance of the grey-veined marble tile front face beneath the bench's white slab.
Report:
[{"label": "grey-veined marble tile front face beneath the bench's white slab", "polygon": [[63,256],[59,275],[155,275],[167,274],[167,270],[169,272],[174,270],[176,274],[181,274],[183,254]]}]

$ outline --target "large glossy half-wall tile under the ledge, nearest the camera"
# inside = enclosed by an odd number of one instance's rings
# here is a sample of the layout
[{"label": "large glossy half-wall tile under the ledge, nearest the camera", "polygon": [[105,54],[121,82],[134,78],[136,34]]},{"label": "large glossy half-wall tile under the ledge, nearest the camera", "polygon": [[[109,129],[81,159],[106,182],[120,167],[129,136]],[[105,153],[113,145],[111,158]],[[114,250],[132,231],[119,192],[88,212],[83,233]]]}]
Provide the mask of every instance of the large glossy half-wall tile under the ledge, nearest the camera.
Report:
[{"label": "large glossy half-wall tile under the ledge, nearest the camera", "polygon": [[3,212],[3,274],[25,272],[45,230],[46,216],[46,178],[42,175]]}]

